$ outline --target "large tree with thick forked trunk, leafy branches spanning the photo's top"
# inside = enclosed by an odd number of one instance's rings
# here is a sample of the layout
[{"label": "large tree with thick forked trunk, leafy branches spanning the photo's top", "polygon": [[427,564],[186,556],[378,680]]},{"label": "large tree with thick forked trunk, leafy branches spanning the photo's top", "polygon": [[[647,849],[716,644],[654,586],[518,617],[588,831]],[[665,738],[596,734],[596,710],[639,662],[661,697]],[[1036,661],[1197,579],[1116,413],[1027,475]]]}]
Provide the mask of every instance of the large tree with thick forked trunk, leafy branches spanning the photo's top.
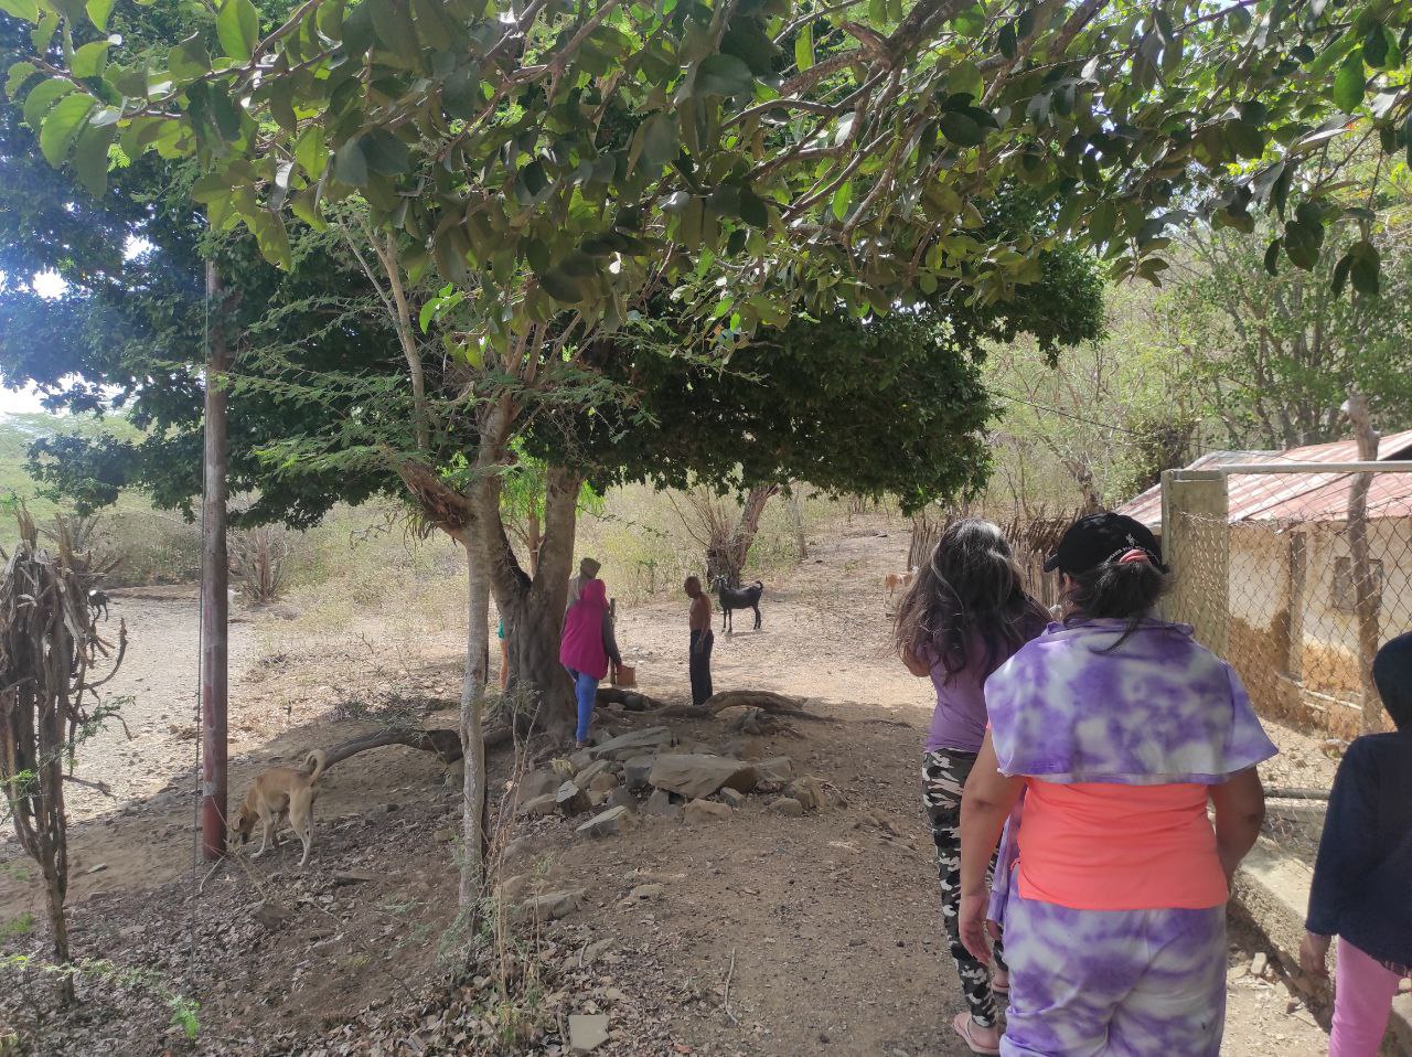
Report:
[{"label": "large tree with thick forked trunk, leafy branches spanning the photo's top", "polygon": [[[1391,153],[1412,107],[1412,13],[1371,3],[1261,0],[1247,34],[1250,4],[1195,0],[309,0],[265,31],[250,0],[222,0],[155,69],[100,37],[104,6],[90,25],[73,0],[7,4],[58,41],[11,75],[48,160],[100,187],[112,143],[193,157],[212,226],[243,222],[285,266],[287,209],[319,226],[357,198],[385,271],[435,268],[452,287],[465,322],[443,362],[465,374],[470,473],[460,488],[425,459],[398,473],[473,541],[551,715],[568,704],[554,640],[579,475],[548,471],[534,577],[510,547],[501,475],[539,418],[602,396],[583,353],[651,291],[723,283],[693,308],[726,319],[713,341],[730,350],[796,301],[858,315],[939,291],[1001,302],[1058,237],[1155,277],[1168,228],[1195,211],[1248,226],[1268,208],[1285,220],[1274,253],[1308,266],[1337,179],[1291,194],[1348,126],[1336,109]],[[1012,185],[1034,188],[1055,235],[983,230],[977,203]],[[1360,290],[1377,280],[1375,222],[1340,261]]]}]

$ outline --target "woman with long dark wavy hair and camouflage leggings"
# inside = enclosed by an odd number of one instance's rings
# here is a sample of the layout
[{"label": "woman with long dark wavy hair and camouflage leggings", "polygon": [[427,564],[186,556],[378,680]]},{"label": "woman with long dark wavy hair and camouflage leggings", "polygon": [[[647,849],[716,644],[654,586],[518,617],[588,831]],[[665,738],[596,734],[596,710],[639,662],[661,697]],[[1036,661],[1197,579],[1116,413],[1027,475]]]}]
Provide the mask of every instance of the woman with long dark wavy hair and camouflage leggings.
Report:
[{"label": "woman with long dark wavy hair and camouflage leggings", "polygon": [[962,790],[986,736],[986,677],[1045,623],[1005,536],[973,517],[946,527],[897,613],[902,663],[914,675],[931,677],[936,691],[922,755],[922,805],[936,844],[942,921],[967,1005],[952,1026],[973,1053],[998,1053],[995,995],[1004,995],[1005,975],[997,954],[993,981],[957,928]]}]

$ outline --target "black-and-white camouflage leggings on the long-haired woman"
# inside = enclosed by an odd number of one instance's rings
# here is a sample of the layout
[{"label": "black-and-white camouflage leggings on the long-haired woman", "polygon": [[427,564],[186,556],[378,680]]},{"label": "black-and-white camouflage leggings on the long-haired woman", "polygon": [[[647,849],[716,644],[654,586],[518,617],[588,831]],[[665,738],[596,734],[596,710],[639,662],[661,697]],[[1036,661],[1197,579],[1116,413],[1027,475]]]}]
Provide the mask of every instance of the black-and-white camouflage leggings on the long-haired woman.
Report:
[{"label": "black-and-white camouflage leggings on the long-haired woman", "polygon": [[[971,1017],[981,1027],[995,1024],[995,996],[990,974],[962,944],[962,789],[976,763],[976,753],[940,749],[922,756],[922,805],[932,825],[936,844],[936,873],[942,880],[942,923],[950,944],[952,959],[962,981],[962,993]],[[1004,950],[995,943],[995,968],[1005,972]]]}]

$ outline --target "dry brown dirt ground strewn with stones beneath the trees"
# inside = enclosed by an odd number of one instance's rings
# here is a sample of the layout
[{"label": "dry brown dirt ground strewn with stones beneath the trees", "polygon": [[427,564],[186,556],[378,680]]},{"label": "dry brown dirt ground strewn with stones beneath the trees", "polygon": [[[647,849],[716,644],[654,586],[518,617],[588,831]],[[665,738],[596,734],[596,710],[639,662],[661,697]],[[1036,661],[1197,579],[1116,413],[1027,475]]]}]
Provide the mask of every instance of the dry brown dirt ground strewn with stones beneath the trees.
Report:
[{"label": "dry brown dirt ground strewn with stones beneath the trees", "polygon": [[[305,870],[285,846],[193,872],[181,728],[193,612],[181,599],[121,602],[126,678],[148,680],[130,708],[145,719],[99,767],[120,800],[80,803],[71,896],[75,954],[109,967],[90,965],[80,1008],[54,1016],[41,974],[11,965],[0,1053],[8,1024],[18,1053],[44,1054],[562,1054],[575,1043],[611,1056],[963,1054],[916,796],[929,694],[887,649],[881,575],[905,554],[901,530],[880,534],[892,528],[820,538],[788,582],[767,585],[760,632],[717,639],[719,691],[791,695],[810,718],[616,711],[590,753],[531,772],[494,756],[504,913],[484,957],[455,978],[455,774],[412,749],[361,753],[325,779]],[[342,643],[291,640],[263,657],[243,647],[233,790],[390,716],[453,724],[460,629],[391,651],[378,636],[388,619],[370,613]],[[626,610],[618,637],[644,691],[681,702],[683,606]],[[44,950],[25,873],[16,845],[0,844],[0,955]],[[1223,1053],[1322,1053],[1313,1017],[1257,955],[1258,940],[1233,935]],[[189,996],[201,1002],[193,1043],[172,1023]]]}]

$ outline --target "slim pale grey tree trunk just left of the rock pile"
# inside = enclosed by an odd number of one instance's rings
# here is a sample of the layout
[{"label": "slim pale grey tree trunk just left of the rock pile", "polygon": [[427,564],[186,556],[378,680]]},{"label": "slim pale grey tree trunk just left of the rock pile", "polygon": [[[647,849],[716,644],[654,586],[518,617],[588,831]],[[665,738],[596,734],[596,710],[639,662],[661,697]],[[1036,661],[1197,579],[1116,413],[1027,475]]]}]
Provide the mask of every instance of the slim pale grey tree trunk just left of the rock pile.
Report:
[{"label": "slim pale grey tree trunk just left of the rock pile", "polygon": [[466,675],[460,688],[460,746],[466,762],[462,780],[462,861],[459,906],[472,910],[486,889],[486,739],[484,704],[490,656],[490,575],[472,547],[466,548],[470,588],[470,630]]}]

